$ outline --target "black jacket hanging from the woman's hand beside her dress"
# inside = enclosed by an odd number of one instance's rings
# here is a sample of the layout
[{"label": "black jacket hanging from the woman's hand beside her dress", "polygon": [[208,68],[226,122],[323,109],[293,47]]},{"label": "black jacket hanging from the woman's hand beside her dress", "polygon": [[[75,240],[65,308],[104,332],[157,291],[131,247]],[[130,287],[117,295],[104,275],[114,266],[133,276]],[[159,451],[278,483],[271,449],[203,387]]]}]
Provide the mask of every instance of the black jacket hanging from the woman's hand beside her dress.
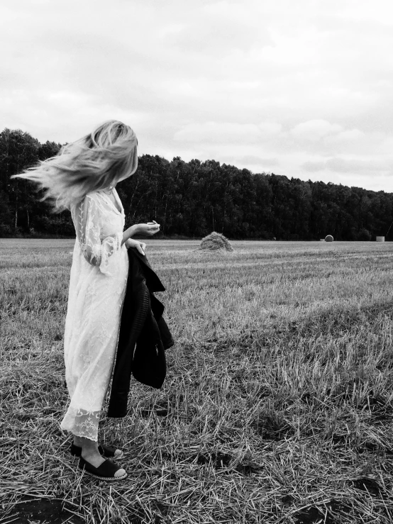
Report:
[{"label": "black jacket hanging from the woman's hand beside her dress", "polygon": [[108,417],[127,415],[131,374],[147,386],[160,389],[167,373],[165,350],[175,344],[154,296],[165,291],[146,256],[128,248],[128,279],[123,301]]}]

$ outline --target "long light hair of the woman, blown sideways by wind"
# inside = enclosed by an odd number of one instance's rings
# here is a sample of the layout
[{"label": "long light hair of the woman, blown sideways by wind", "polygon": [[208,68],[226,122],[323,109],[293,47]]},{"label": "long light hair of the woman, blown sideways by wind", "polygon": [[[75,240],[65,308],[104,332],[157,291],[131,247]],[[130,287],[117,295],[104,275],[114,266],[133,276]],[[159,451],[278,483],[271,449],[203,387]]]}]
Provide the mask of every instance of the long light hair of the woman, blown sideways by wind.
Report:
[{"label": "long light hair of the woman, blown sideways by wind", "polygon": [[138,140],[130,126],[109,120],[92,133],[64,145],[58,155],[11,178],[23,178],[46,189],[53,211],[70,209],[92,191],[107,189],[138,167]]}]

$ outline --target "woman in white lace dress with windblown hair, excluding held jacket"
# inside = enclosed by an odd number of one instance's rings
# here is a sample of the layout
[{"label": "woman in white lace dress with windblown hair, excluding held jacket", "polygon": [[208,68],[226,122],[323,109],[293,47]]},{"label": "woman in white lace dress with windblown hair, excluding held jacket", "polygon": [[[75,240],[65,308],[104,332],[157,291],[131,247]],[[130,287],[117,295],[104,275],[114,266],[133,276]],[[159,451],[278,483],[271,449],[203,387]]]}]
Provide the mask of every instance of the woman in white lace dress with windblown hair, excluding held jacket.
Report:
[{"label": "woman in white lace dress with windblown hair, excluding held jacket", "polygon": [[154,222],[131,225],[123,231],[124,209],[115,187],[135,172],[137,144],[129,126],[108,121],[62,147],[56,157],[15,175],[46,189],[43,199],[51,199],[55,211],[71,211],[77,238],[64,334],[70,403],[61,428],[74,435],[70,452],[80,457],[79,469],[108,481],[127,476],[111,461],[123,453],[98,443],[99,417],[111,378],[126,291],[127,248],[136,247],[144,253],[145,244],[133,240],[133,235],[154,235],[160,230]]}]

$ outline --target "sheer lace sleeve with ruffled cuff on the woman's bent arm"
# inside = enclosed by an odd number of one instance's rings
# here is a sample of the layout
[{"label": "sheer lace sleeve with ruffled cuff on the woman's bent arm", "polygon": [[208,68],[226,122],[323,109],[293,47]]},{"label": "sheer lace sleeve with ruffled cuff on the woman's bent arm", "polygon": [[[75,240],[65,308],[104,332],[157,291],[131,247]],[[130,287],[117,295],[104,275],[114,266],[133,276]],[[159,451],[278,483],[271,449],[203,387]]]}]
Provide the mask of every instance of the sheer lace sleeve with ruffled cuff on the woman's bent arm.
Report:
[{"label": "sheer lace sleeve with ruffled cuff on the woman's bent arm", "polygon": [[86,196],[75,208],[75,230],[84,258],[101,273],[113,276],[109,270],[120,252],[123,233],[115,233],[103,240],[100,237],[99,208],[91,196]]}]

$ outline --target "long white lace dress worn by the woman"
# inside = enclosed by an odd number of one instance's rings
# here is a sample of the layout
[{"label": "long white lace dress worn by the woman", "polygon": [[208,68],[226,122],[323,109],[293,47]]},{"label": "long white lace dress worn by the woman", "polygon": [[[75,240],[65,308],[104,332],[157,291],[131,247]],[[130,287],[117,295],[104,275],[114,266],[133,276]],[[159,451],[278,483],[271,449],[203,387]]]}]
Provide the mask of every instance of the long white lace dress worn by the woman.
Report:
[{"label": "long white lace dress worn by the woman", "polygon": [[97,440],[99,415],[114,365],[128,277],[128,254],[121,245],[121,212],[104,191],[71,206],[77,238],[72,255],[65,319],[65,378],[70,404],[61,428]]}]

